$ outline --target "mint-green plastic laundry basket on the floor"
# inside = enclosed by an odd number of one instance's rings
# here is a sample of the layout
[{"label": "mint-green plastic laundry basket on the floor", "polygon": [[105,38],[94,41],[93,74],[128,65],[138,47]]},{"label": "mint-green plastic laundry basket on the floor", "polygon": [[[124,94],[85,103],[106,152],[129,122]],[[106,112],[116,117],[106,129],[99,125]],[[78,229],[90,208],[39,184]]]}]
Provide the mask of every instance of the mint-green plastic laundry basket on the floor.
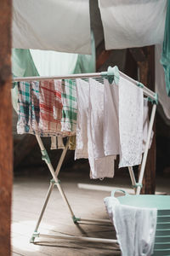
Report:
[{"label": "mint-green plastic laundry basket on the floor", "polygon": [[117,197],[121,204],[157,208],[154,256],[170,256],[170,195],[128,195]]}]

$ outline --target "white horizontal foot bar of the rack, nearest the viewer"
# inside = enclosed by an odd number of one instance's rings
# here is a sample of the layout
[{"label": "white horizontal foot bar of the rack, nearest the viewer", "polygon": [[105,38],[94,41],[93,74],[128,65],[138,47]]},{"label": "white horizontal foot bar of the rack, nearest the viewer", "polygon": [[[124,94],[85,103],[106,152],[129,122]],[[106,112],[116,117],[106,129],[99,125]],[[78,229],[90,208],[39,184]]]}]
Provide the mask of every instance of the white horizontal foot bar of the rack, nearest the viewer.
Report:
[{"label": "white horizontal foot bar of the rack, nearest the viewer", "polygon": [[92,242],[102,242],[102,243],[117,243],[115,239],[105,239],[105,238],[95,238],[95,237],[85,237],[85,236],[68,236],[68,235],[46,235],[39,234],[38,237],[54,238],[54,239],[65,239],[65,240],[77,240],[77,241],[92,241]]}]

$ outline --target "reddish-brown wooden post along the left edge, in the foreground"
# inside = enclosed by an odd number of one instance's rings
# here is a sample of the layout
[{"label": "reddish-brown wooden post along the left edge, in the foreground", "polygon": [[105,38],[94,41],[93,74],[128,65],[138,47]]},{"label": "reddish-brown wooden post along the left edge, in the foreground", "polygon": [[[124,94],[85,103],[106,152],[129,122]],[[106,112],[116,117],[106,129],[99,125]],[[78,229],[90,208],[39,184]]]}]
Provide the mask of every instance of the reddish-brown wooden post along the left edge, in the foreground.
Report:
[{"label": "reddish-brown wooden post along the left edge, in the foreground", "polygon": [[0,1],[0,255],[10,255],[12,192],[11,0]]}]

